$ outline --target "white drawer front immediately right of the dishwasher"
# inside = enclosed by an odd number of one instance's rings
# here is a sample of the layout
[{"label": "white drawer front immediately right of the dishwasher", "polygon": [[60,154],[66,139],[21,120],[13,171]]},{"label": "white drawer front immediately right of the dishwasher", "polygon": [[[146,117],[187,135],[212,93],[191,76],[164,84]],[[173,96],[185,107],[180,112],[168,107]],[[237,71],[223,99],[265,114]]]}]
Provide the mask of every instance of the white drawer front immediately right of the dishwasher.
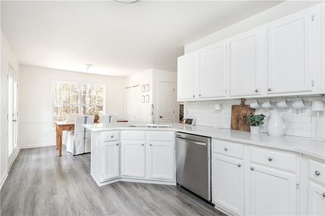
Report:
[{"label": "white drawer front immediately right of the dishwasher", "polygon": [[244,146],[232,141],[213,139],[213,152],[244,159]]}]

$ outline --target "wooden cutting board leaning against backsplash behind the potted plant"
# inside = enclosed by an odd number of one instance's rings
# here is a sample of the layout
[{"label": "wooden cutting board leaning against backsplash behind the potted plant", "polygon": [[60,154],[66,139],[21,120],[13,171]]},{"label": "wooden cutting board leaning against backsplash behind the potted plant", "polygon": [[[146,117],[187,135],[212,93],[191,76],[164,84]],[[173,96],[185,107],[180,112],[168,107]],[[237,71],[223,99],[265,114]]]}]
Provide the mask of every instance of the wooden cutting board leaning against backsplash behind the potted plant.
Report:
[{"label": "wooden cutting board leaning against backsplash behind the potted plant", "polygon": [[245,117],[254,113],[249,105],[244,105],[245,99],[242,98],[240,105],[232,105],[232,130],[250,131],[250,125],[247,123]]}]

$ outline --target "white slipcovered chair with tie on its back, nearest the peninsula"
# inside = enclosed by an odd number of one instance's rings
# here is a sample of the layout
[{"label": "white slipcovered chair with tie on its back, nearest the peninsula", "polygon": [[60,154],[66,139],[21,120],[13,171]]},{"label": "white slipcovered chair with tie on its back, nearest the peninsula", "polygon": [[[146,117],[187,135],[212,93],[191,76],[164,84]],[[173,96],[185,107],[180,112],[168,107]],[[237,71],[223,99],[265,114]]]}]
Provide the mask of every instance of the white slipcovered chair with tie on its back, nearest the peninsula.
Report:
[{"label": "white slipcovered chair with tie on its back, nearest the peninsula", "polygon": [[94,116],[92,115],[76,116],[75,130],[69,131],[67,134],[67,152],[70,152],[73,155],[90,152],[90,131],[81,126],[81,124],[91,124],[93,123],[93,120]]}]

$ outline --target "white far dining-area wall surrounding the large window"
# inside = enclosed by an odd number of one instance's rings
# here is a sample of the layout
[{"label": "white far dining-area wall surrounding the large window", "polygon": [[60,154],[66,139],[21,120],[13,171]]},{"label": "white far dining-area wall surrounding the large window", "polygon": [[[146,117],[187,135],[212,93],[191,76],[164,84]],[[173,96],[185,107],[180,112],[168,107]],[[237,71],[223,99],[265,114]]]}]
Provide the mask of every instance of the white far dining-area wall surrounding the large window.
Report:
[{"label": "white far dining-area wall surrounding the large window", "polygon": [[[19,143],[21,148],[55,145],[55,130],[52,124],[53,81],[84,83],[86,74],[20,66]],[[89,75],[88,82],[106,86],[106,113],[124,119],[125,78]]]}]

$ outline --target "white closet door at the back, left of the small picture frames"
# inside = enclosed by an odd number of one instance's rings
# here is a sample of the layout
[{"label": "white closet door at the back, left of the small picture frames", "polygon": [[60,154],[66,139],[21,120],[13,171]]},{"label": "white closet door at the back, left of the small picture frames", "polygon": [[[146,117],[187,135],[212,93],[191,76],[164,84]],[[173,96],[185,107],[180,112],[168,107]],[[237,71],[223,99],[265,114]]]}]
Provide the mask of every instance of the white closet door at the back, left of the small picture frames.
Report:
[{"label": "white closet door at the back, left of the small picture frames", "polygon": [[125,117],[129,121],[140,120],[140,86],[125,89]]}]

